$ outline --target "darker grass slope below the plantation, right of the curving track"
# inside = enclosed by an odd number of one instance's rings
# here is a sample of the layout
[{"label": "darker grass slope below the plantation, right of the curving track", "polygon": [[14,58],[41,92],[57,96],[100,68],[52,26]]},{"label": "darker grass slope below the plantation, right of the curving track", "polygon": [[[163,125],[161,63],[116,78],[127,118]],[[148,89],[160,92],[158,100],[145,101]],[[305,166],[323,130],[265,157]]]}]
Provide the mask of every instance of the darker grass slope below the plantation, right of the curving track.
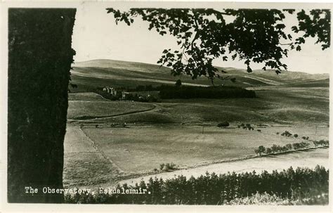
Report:
[{"label": "darker grass slope below the plantation, right of the curving track", "polygon": [[[103,122],[145,124],[328,124],[328,88],[256,90],[258,98],[163,100],[145,114],[110,117]],[[309,101],[311,100],[311,101]],[[110,104],[111,105],[111,104]]]}]

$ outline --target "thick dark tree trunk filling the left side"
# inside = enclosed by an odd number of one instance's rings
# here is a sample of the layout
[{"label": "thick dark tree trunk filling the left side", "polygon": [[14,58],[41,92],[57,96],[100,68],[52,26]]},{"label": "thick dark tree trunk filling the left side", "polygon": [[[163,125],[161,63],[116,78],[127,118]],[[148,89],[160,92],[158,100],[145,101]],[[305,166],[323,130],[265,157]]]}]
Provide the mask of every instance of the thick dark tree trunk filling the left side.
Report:
[{"label": "thick dark tree trunk filling the left side", "polygon": [[[63,202],[74,8],[8,10],[8,202]],[[25,187],[38,188],[26,193]]]}]

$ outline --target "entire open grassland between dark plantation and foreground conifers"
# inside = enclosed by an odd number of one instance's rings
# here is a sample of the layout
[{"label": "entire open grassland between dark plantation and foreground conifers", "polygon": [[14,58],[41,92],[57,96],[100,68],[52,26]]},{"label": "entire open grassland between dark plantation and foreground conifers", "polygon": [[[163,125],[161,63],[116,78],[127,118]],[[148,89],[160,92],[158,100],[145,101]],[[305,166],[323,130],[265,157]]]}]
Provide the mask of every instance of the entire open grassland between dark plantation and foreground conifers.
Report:
[{"label": "entire open grassland between dark plantation and foreground conifers", "polygon": [[[205,172],[271,172],[289,167],[329,168],[329,150],[318,148],[270,157],[258,146],[329,139],[328,88],[259,87],[258,98],[107,101],[96,93],[72,93],[65,136],[65,187],[114,186],[152,176],[200,176]],[[218,122],[230,127],[220,129]],[[250,123],[249,131],[237,128]],[[297,138],[280,134],[290,131]],[[154,174],[160,164],[178,170]]]}]

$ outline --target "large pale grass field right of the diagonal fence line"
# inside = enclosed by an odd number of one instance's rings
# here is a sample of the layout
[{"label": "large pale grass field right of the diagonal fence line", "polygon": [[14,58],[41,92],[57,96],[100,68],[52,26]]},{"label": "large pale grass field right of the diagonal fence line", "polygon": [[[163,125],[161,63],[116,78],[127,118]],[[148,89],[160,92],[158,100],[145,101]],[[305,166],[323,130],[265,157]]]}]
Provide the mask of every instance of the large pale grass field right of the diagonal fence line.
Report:
[{"label": "large pale grass field right of the diagonal fence line", "polygon": [[138,173],[159,168],[159,164],[174,162],[190,166],[214,160],[253,155],[258,146],[299,143],[300,138],[276,135],[285,130],[327,139],[328,128],[268,127],[258,131],[244,129],[218,129],[217,127],[133,126],[126,128],[83,129],[124,172]]}]

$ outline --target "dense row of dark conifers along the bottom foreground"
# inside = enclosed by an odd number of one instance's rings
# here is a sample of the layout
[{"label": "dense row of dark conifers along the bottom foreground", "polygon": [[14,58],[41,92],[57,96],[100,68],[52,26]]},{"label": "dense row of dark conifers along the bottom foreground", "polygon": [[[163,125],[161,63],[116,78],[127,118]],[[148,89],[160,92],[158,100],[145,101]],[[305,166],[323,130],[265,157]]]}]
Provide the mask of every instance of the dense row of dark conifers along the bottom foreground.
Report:
[{"label": "dense row of dark conifers along the bottom foreground", "polygon": [[313,197],[328,192],[329,171],[324,167],[315,169],[290,167],[282,172],[261,174],[246,172],[216,175],[214,173],[186,179],[150,179],[135,186],[124,184],[117,188],[147,189],[145,194],[75,194],[66,195],[70,203],[114,204],[162,204],[162,205],[223,205],[235,198],[246,198],[256,193],[278,195],[285,199]]}]

